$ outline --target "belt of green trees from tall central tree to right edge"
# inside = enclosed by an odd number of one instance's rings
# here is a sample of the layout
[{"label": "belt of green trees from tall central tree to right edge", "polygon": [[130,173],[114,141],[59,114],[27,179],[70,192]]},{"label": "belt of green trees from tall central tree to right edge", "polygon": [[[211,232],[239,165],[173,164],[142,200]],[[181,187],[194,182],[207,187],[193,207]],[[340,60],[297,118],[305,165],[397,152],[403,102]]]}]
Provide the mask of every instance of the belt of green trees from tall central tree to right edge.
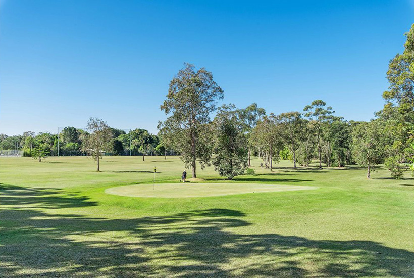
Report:
[{"label": "belt of green trees from tall central tree to right edge", "polygon": [[367,167],[367,178],[380,163],[395,178],[409,168],[414,173],[414,25],[406,36],[404,52],[389,64],[384,108],[369,122],[345,121],[322,100],[302,112],[279,115],[266,114],[255,103],[245,109],[217,109],[224,92],[212,73],[185,64],[161,105],[168,116],[158,125],[161,142],[181,154],[193,178],[197,160],[201,169],[212,163],[220,175],[233,178],[250,166],[252,153],[270,171],[274,161],[287,156],[294,168],[297,163],[309,166],[313,159],[319,168],[359,164]]}]

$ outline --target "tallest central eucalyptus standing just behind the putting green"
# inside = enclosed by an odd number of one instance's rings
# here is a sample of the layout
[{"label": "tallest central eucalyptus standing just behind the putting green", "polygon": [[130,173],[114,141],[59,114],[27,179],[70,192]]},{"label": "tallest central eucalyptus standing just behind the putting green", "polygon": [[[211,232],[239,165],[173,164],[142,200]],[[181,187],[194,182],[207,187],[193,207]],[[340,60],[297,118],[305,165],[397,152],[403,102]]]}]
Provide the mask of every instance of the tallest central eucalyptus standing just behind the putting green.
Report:
[{"label": "tallest central eucalyptus standing just behind the putting green", "polygon": [[174,149],[196,177],[196,159],[201,169],[210,165],[212,154],[210,114],[216,110],[216,101],[223,99],[223,89],[213,80],[213,74],[204,68],[184,64],[170,82],[167,99],[161,110],[169,115],[159,126],[167,126],[173,137]]}]

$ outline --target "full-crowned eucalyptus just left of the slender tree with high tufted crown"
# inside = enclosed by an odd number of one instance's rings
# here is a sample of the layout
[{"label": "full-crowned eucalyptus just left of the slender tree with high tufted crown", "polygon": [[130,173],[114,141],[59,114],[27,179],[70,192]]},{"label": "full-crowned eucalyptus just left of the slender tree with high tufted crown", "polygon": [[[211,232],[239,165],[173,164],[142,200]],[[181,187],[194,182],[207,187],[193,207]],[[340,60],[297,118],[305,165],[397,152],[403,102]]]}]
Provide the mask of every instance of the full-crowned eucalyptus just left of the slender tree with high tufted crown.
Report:
[{"label": "full-crowned eucalyptus just left of the slender tree with high tufted crown", "polygon": [[306,120],[299,112],[288,112],[277,115],[276,121],[283,143],[293,153],[293,167],[296,168],[296,151],[307,136]]}]

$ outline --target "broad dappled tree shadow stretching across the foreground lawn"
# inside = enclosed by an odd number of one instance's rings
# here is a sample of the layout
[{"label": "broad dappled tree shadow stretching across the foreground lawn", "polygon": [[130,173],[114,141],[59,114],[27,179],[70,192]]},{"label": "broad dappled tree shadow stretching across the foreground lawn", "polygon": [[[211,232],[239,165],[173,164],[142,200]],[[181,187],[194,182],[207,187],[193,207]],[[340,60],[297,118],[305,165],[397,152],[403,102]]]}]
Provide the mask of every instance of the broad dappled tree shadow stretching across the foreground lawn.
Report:
[{"label": "broad dappled tree shadow stretching across the foreground lawn", "polygon": [[[240,234],[225,208],[106,219],[57,213],[87,197],[0,184],[0,276],[407,277],[414,253],[372,241]],[[65,210],[66,211],[66,210]],[[64,211],[63,211],[64,212]]]}]

